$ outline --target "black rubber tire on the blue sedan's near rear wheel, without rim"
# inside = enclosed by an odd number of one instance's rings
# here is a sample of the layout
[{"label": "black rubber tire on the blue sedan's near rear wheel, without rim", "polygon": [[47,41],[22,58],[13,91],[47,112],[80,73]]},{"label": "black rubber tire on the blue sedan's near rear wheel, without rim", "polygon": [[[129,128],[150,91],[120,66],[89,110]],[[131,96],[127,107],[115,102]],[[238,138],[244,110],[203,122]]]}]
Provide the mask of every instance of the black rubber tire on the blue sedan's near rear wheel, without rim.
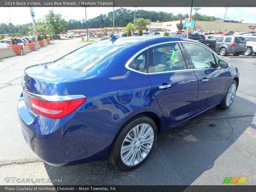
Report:
[{"label": "black rubber tire on the blue sedan's near rear wheel, without rim", "polygon": [[[154,132],[153,144],[148,154],[144,157],[144,159],[140,163],[129,166],[124,164],[124,162],[121,159],[121,148],[126,136],[130,133],[130,131],[133,128],[135,128],[137,125],[140,125],[140,124],[148,124],[153,129],[153,132]],[[139,167],[141,164],[143,164],[147,160],[148,156],[152,152],[152,149],[156,143],[156,136],[157,136],[157,128],[153,119],[151,119],[149,116],[144,114],[132,117],[121,127],[121,129],[116,134],[116,137],[112,142],[111,149],[108,154],[109,161],[113,165],[115,165],[117,168],[123,171],[130,171],[132,169]],[[135,156],[137,156],[137,154]]]}]

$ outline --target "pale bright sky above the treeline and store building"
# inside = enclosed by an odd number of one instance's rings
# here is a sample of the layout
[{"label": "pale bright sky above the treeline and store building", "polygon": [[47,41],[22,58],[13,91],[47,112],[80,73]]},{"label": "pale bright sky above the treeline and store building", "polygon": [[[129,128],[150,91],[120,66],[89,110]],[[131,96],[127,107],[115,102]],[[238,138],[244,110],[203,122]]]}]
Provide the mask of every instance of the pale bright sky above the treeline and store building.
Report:
[{"label": "pale bright sky above the treeline and store building", "polygon": [[[118,9],[120,7],[115,7]],[[134,7],[124,7],[125,9],[135,10]],[[85,10],[83,7],[34,7],[35,20],[43,19],[44,15],[48,13],[48,10],[53,9],[54,13],[62,14],[62,18],[65,20],[82,20],[85,19]],[[190,12],[190,7],[137,7],[137,10],[147,11],[163,11],[172,12],[174,15],[186,14]],[[28,7],[0,7],[0,23],[10,23],[8,11],[12,24],[26,24],[32,22],[29,14]],[[113,11],[113,7],[88,7],[86,9],[87,20],[94,18],[100,14],[107,14]],[[206,14],[208,16],[214,16],[224,18],[226,8],[224,7],[201,7],[197,13],[201,15]],[[192,10],[192,15],[196,11]],[[256,24],[256,11],[255,7],[230,7],[227,10],[225,20],[244,20],[243,23]]]}]

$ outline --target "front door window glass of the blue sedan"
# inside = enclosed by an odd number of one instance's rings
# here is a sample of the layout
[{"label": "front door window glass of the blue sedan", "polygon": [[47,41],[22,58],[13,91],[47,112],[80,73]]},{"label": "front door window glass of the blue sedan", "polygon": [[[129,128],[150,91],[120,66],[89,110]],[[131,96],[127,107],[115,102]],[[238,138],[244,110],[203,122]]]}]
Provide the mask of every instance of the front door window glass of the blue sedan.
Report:
[{"label": "front door window glass of the blue sedan", "polygon": [[216,62],[214,59],[214,54],[208,49],[192,44],[192,43],[183,43],[188,54],[192,60],[193,68],[215,68]]}]

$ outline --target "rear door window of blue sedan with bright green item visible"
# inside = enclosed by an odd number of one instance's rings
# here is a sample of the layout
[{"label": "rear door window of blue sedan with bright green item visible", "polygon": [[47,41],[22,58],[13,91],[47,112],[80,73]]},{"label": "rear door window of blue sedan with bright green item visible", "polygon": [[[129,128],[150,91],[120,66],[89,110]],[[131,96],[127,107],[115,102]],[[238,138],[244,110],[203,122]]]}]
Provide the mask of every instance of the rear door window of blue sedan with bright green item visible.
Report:
[{"label": "rear door window of blue sedan with bright green item visible", "polygon": [[153,70],[162,72],[187,69],[178,43],[163,44],[153,47]]}]

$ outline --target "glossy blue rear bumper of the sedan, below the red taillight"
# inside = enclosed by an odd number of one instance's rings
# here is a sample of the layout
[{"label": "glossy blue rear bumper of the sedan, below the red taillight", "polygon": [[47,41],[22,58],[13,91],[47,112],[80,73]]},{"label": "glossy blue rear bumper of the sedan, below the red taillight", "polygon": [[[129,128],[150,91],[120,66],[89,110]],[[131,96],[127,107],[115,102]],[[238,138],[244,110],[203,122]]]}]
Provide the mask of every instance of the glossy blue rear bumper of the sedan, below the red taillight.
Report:
[{"label": "glossy blue rear bumper of the sedan, below the red taillight", "polygon": [[61,166],[83,159],[106,158],[119,128],[73,112],[60,119],[29,113],[23,96],[18,102],[23,136],[46,163]]}]

